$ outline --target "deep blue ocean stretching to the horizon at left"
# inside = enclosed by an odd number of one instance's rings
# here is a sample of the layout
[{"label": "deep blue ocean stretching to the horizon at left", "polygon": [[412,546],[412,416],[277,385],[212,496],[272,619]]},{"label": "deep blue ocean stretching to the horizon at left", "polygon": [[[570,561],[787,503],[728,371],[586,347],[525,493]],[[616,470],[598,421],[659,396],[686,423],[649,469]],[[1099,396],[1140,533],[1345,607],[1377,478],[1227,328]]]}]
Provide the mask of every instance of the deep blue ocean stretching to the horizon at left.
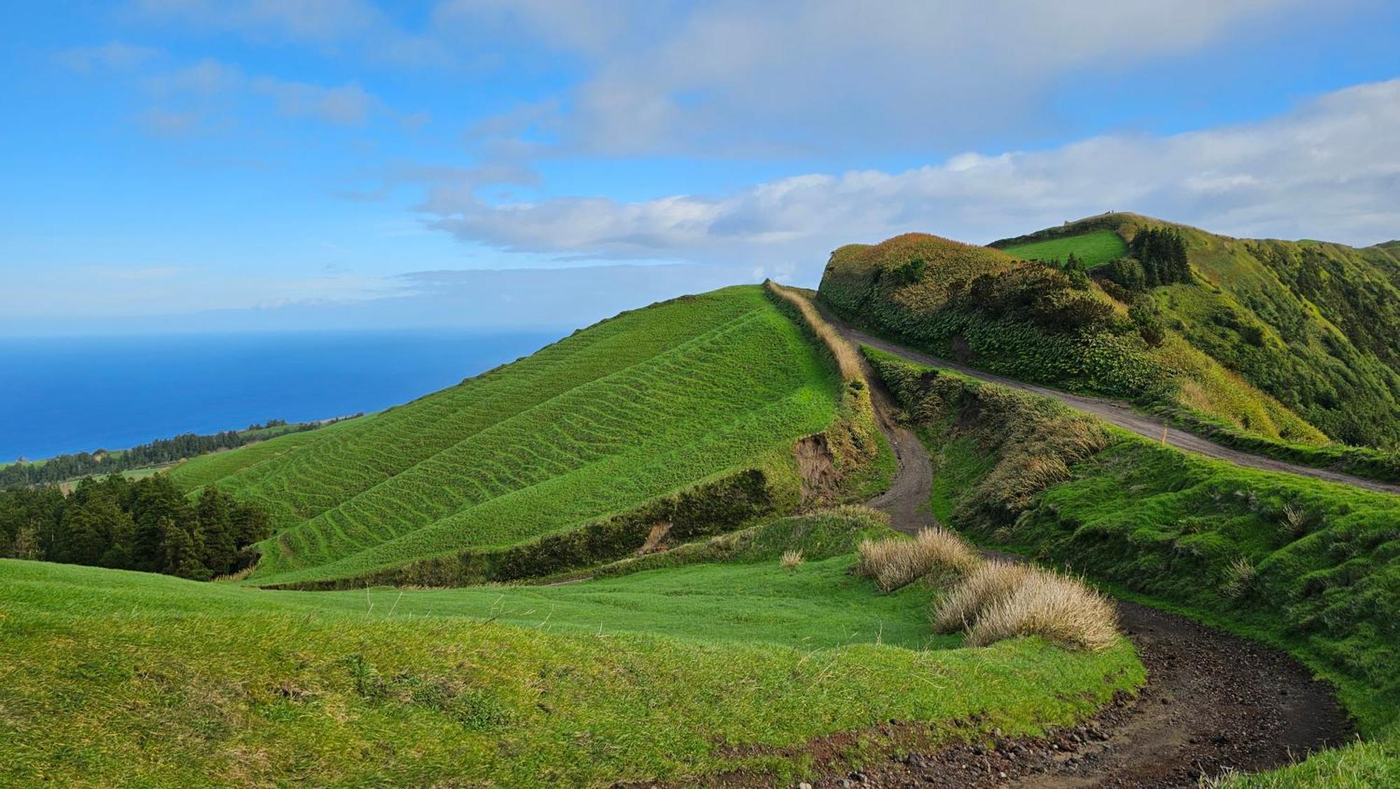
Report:
[{"label": "deep blue ocean stretching to the horizon at left", "polygon": [[377,411],[559,337],[403,330],[0,339],[0,462]]}]

